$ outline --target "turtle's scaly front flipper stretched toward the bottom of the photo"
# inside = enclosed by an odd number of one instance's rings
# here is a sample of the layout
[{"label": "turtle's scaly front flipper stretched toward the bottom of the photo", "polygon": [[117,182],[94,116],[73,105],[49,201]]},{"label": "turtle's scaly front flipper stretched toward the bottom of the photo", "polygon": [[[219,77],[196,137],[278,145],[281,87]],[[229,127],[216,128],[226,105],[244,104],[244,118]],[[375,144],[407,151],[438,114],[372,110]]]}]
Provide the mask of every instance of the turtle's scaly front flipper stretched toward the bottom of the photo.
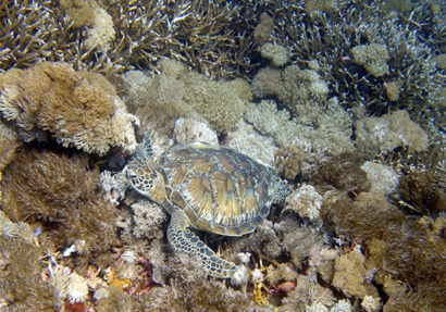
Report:
[{"label": "turtle's scaly front flipper stretched toward the bottom of the photo", "polygon": [[220,278],[232,277],[236,267],[213,252],[186,226],[184,213],[176,211],[172,214],[168,228],[168,239],[175,252],[198,255],[203,265],[209,270],[209,275]]}]

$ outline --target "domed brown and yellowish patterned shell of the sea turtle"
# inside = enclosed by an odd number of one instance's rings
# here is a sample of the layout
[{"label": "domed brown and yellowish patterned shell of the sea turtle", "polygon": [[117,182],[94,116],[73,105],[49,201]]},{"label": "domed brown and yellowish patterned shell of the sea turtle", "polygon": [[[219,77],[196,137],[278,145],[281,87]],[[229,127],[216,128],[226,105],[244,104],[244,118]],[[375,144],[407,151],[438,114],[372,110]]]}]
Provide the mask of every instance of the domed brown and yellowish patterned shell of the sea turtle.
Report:
[{"label": "domed brown and yellowish patterned shell of the sea turtle", "polygon": [[161,167],[168,202],[198,229],[240,236],[253,232],[270,213],[274,170],[235,150],[181,143],[163,154]]}]

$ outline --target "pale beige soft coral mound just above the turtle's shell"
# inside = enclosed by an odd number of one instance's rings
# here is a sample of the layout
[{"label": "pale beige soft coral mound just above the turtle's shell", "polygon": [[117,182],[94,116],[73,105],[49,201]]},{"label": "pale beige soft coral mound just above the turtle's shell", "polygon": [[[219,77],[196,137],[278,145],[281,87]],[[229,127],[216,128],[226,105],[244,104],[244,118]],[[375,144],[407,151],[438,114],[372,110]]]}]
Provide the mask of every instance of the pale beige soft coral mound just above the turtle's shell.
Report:
[{"label": "pale beige soft coral mound just above the turtle's shell", "polygon": [[143,126],[152,123],[171,130],[178,117],[193,117],[207,121],[219,133],[235,128],[245,112],[239,89],[230,82],[182,70],[179,62],[162,63],[163,72],[152,77],[134,72],[125,75],[133,86],[126,99],[136,114],[144,116]]}]

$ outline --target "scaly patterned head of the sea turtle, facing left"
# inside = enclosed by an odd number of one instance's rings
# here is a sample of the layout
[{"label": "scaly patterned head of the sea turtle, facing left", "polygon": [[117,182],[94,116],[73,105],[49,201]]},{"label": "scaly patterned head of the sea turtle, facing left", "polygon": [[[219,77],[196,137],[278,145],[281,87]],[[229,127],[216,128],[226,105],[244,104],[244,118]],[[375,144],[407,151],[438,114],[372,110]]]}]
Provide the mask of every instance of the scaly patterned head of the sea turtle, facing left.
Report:
[{"label": "scaly patterned head of the sea turtle, facing left", "polygon": [[131,186],[140,195],[158,203],[165,201],[164,176],[153,165],[127,164],[125,166],[125,176]]}]

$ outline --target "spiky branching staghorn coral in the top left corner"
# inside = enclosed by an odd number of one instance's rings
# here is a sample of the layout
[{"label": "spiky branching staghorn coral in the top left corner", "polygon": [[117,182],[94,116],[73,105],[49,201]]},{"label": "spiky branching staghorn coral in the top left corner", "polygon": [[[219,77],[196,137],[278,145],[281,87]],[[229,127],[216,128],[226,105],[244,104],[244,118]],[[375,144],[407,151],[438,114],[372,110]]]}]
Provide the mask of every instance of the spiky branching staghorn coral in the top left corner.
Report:
[{"label": "spiky branching staghorn coral in the top left corner", "polygon": [[[0,3],[0,72],[28,67],[39,60],[71,60],[75,35],[50,0]],[[54,10],[53,10],[54,9]]]}]

